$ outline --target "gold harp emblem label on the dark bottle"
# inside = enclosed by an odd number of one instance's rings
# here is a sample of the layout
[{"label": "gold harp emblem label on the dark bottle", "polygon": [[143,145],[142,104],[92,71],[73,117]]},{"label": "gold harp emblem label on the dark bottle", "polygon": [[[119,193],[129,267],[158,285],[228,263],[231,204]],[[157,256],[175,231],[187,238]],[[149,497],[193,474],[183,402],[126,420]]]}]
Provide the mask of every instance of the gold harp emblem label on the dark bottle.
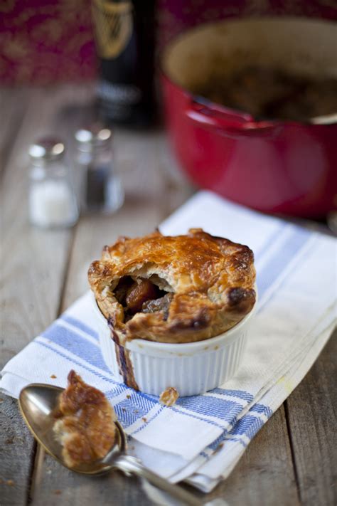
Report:
[{"label": "gold harp emblem label on the dark bottle", "polygon": [[132,2],[93,0],[92,14],[98,56],[116,58],[132,36]]}]

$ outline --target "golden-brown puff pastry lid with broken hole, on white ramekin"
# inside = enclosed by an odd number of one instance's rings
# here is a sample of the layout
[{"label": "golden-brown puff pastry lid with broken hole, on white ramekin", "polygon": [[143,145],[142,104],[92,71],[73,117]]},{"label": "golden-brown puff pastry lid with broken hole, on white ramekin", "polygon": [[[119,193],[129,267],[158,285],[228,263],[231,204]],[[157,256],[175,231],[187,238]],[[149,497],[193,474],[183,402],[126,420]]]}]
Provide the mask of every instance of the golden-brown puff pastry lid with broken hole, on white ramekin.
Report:
[{"label": "golden-brown puff pastry lid with broken hole, on white ramekin", "polygon": [[120,237],[92,262],[88,278],[122,345],[209,339],[242,320],[256,298],[250,248],[201,228],[185,236]]}]

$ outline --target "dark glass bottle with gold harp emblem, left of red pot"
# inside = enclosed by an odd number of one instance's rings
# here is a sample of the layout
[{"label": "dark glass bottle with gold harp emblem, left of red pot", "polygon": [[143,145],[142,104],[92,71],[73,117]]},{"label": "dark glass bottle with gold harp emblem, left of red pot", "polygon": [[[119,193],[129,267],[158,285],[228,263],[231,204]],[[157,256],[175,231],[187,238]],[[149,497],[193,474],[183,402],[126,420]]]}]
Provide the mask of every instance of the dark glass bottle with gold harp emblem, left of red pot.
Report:
[{"label": "dark glass bottle with gold harp emblem, left of red pot", "polygon": [[92,0],[101,119],[130,126],[154,120],[154,0]]}]

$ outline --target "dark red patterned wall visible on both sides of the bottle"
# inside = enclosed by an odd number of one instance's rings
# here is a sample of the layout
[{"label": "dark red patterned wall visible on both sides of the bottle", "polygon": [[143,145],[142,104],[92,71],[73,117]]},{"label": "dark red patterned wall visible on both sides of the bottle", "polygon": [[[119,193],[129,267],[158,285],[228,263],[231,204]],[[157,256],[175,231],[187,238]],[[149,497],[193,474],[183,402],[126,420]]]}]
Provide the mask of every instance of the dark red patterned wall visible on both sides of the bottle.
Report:
[{"label": "dark red patterned wall visible on both sides of the bottle", "polygon": [[[147,1],[147,0],[143,0]],[[294,14],[337,19],[336,0],[158,0],[160,50],[198,23]],[[90,0],[0,1],[0,81],[51,83],[95,77]]]}]

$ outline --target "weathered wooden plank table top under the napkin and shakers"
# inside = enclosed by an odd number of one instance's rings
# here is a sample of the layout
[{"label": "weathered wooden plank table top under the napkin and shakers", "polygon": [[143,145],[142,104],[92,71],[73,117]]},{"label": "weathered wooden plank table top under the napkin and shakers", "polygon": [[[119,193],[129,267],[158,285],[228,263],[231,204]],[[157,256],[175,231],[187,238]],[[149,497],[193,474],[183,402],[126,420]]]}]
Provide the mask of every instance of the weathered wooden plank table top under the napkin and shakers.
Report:
[{"label": "weathered wooden plank table top under the napkin and shakers", "polygon": [[[107,241],[149,233],[193,193],[176,169],[164,132],[117,129],[116,167],[127,194],[123,208],[109,217],[80,218],[68,230],[29,226],[28,144],[49,133],[69,139],[85,119],[81,105],[92,93],[92,85],[1,90],[0,369],[87,289],[87,266]],[[207,500],[336,505],[336,335]],[[37,451],[17,402],[0,394],[0,505],[27,504],[153,503],[136,478],[117,472],[87,478]]]}]

